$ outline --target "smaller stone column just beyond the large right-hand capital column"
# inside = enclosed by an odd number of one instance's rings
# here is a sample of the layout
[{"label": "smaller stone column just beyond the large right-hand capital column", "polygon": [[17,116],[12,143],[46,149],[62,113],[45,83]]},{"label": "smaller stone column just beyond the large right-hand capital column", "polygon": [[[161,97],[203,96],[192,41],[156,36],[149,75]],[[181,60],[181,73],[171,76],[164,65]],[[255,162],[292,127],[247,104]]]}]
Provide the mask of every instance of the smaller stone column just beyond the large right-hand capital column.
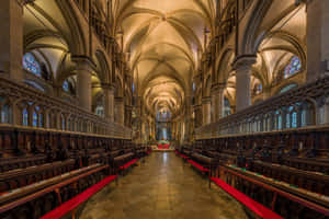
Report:
[{"label": "smaller stone column just beyond the large right-hand capital column", "polygon": [[224,91],[225,83],[216,83],[212,87],[212,123],[219,120],[223,117]]}]

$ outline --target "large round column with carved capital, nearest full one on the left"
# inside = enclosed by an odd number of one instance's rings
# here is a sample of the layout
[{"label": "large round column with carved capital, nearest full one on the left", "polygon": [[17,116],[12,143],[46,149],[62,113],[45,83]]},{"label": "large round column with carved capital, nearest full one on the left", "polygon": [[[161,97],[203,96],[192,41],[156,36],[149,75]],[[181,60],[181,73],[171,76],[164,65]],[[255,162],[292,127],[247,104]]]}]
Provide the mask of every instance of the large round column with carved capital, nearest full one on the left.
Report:
[{"label": "large round column with carved capital, nearest full one on the left", "polygon": [[91,111],[91,73],[93,62],[88,57],[72,57],[77,64],[77,95],[79,105]]}]

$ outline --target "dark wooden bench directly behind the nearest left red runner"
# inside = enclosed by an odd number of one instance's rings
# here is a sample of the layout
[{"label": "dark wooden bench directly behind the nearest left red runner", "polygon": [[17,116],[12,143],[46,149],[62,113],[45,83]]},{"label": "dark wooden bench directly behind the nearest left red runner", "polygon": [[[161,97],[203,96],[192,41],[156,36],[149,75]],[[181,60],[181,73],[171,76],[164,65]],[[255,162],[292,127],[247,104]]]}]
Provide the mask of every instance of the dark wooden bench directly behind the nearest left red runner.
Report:
[{"label": "dark wooden bench directly behind the nearest left red runner", "polygon": [[[0,196],[0,218],[16,218],[22,214],[27,218],[39,218],[69,198],[100,182],[109,165],[93,165],[46,180],[44,183],[19,188]],[[107,172],[107,171],[106,171]]]}]

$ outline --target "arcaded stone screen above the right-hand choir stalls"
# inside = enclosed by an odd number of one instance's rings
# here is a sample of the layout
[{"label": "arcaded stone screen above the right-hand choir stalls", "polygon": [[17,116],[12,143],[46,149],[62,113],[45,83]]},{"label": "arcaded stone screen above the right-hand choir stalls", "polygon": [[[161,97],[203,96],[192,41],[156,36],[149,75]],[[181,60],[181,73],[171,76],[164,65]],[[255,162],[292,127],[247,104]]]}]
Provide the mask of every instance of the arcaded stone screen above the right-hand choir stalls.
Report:
[{"label": "arcaded stone screen above the right-hand choir stalls", "polygon": [[327,77],[196,128],[196,139],[326,125],[328,93]]}]

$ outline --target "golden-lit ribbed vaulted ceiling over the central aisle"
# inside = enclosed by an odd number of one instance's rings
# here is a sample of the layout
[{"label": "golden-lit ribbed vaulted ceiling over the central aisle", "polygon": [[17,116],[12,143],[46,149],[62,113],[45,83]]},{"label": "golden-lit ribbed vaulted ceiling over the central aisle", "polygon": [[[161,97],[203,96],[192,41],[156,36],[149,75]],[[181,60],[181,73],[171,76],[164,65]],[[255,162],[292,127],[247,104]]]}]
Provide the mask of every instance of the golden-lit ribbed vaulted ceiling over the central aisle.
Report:
[{"label": "golden-lit ribbed vaulted ceiling over the central aisle", "polygon": [[138,95],[149,112],[183,113],[214,5],[215,0],[113,1],[116,32],[123,34]]}]

